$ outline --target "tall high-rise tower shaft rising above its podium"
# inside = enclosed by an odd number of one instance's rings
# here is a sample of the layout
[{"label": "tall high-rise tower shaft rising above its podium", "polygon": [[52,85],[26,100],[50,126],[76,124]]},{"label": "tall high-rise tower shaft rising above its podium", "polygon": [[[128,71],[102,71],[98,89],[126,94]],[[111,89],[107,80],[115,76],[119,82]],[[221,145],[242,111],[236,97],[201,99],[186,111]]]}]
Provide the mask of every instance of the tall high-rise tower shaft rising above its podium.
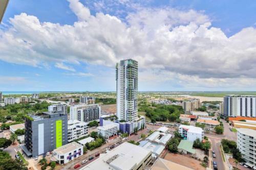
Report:
[{"label": "tall high-rise tower shaft rising above its podium", "polygon": [[138,117],[138,62],[121,60],[116,64],[117,117],[134,122]]}]

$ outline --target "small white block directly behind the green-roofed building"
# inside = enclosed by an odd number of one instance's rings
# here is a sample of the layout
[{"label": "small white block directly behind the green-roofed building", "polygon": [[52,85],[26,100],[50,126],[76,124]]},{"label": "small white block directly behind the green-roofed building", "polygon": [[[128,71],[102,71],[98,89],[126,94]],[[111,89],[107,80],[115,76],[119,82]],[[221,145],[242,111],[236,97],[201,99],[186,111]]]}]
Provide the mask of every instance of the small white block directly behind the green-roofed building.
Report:
[{"label": "small white block directly behind the green-roofed building", "polygon": [[202,140],[204,136],[204,131],[202,128],[187,125],[180,125],[179,133],[182,135],[184,139],[189,141],[194,141],[197,138]]}]

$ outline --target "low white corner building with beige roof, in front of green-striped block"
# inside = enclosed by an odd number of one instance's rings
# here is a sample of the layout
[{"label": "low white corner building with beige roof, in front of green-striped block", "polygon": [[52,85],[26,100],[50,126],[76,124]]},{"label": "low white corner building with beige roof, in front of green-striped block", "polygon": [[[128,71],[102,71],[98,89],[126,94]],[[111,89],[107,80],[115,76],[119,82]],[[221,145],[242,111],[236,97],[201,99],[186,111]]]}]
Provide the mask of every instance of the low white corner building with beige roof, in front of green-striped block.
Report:
[{"label": "low white corner building with beige roof, in front of green-striped block", "polygon": [[53,150],[51,161],[57,161],[59,164],[64,164],[82,155],[83,146],[76,142],[72,142]]}]

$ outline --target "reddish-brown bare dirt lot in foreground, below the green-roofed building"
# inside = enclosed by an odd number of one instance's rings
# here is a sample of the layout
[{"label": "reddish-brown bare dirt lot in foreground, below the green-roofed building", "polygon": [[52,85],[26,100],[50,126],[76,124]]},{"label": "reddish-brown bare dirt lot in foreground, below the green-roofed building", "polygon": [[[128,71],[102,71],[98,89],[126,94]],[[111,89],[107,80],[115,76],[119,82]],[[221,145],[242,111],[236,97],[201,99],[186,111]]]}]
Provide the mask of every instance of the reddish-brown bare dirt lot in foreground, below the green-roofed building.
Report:
[{"label": "reddish-brown bare dirt lot in foreground, below the green-roofed building", "polygon": [[185,155],[167,153],[164,159],[178,163],[180,165],[195,169],[195,170],[205,170],[206,168],[200,165],[200,161],[189,158]]}]

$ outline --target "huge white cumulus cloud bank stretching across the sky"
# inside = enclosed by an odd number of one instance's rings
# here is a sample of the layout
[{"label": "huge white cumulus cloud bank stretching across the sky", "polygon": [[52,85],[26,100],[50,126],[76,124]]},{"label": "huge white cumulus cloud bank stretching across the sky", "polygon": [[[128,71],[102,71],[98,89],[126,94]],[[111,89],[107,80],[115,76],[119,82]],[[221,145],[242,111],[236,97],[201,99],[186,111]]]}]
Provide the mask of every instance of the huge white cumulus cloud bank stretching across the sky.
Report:
[{"label": "huge white cumulus cloud bank stretching across the sky", "polygon": [[132,58],[142,71],[164,71],[180,75],[179,80],[193,78],[188,79],[191,82],[256,78],[255,28],[227,37],[201,11],[140,7],[124,22],[100,12],[91,15],[78,0],[69,2],[78,17],[73,25],[40,22],[26,13],[10,18],[9,29],[0,30],[0,59],[32,66],[56,63],[57,68],[75,71],[63,63],[114,67],[119,60]]}]

